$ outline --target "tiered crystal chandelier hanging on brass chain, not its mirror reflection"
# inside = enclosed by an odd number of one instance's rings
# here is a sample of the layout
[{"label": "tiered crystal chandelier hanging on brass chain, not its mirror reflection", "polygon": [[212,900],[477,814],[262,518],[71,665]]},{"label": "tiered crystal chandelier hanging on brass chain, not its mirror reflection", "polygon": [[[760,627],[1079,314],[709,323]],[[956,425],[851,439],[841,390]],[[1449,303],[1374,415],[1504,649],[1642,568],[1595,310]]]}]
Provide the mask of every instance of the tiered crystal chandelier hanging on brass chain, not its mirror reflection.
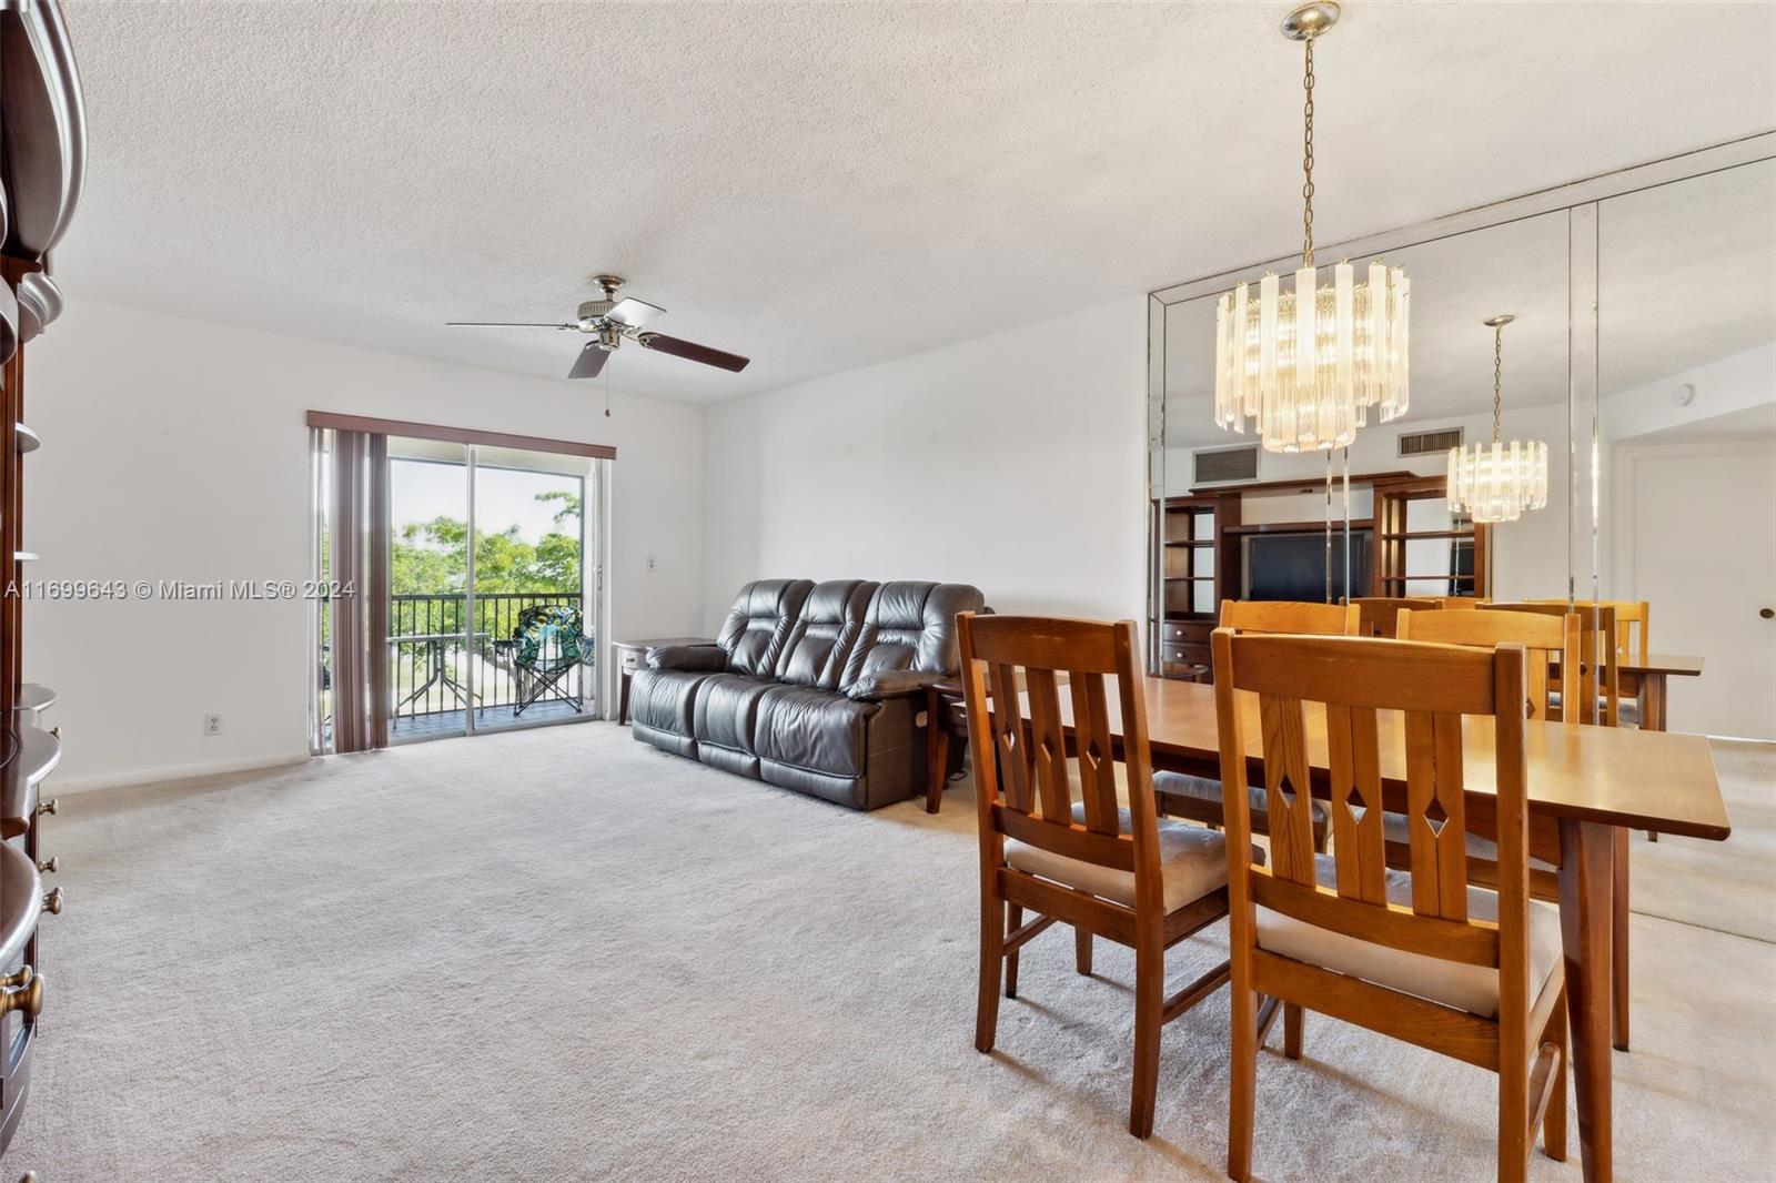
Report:
[{"label": "tiered crystal chandelier hanging on brass chain, not its mirror reflection", "polygon": [[[1305,4],[1282,34],[1305,48],[1302,107],[1302,266],[1293,291],[1277,275],[1222,293],[1215,309],[1215,423],[1257,421],[1265,451],[1346,448],[1375,407],[1382,423],[1407,410],[1407,274],[1350,263],[1328,284],[1314,266],[1314,39],[1337,21],[1330,0]],[[1305,348],[1304,348],[1304,343]]]}]

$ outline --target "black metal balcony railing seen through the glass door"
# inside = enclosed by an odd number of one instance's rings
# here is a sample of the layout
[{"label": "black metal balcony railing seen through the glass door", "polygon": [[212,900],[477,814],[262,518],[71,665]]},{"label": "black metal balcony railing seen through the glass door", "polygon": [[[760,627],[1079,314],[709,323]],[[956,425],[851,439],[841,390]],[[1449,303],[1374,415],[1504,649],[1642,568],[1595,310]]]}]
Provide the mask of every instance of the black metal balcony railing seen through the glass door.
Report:
[{"label": "black metal balcony railing seen through the glass door", "polygon": [[[476,595],[474,629],[469,629],[465,595],[391,595],[389,726],[396,734],[437,730],[449,725],[451,716],[462,718],[471,702],[481,712],[503,709],[501,714],[510,716],[519,700],[519,671],[511,652],[496,641],[511,639],[519,613],[533,604],[584,609],[579,595],[565,592]],[[561,686],[583,702],[593,686],[591,666],[572,670]],[[531,712],[526,711],[524,718],[529,719]]]}]

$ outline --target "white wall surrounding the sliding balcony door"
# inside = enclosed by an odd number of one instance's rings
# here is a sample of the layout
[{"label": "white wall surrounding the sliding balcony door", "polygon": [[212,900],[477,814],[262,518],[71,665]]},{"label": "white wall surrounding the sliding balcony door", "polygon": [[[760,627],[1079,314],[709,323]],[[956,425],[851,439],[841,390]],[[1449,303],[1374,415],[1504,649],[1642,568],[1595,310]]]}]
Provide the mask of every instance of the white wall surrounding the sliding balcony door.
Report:
[{"label": "white wall surrounding the sliding balcony door", "polygon": [[[304,412],[614,444],[616,636],[693,632],[703,409],[583,384],[71,302],[28,346],[27,547],[43,579],[307,577]],[[657,568],[646,570],[654,556]],[[60,693],[59,790],[298,760],[302,602],[30,602],[25,677]],[[220,735],[202,716],[220,712]]]}]

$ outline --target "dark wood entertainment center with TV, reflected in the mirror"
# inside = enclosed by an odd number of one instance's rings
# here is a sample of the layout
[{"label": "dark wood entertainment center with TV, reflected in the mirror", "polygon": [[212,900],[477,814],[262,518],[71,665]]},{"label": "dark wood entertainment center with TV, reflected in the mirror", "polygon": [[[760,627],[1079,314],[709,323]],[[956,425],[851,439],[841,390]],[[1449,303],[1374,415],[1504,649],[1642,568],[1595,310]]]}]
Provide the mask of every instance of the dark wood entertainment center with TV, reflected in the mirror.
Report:
[{"label": "dark wood entertainment center with TV, reflected in the mirror", "polygon": [[[1332,487],[1332,581],[1343,588],[1343,480]],[[1325,600],[1325,478],[1199,485],[1153,501],[1149,668],[1201,677],[1222,600]],[[1487,597],[1490,528],[1449,512],[1446,478],[1350,478],[1352,595]],[[1337,599],[1341,592],[1334,592]]]}]

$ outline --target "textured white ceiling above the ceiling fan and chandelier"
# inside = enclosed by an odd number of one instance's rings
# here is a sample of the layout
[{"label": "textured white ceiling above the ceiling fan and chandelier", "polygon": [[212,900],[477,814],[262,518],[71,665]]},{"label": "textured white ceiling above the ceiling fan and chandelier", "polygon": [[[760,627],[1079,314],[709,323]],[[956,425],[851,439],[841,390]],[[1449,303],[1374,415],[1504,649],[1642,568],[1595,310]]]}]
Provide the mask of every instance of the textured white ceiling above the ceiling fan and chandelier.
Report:
[{"label": "textured white ceiling above the ceiling fan and chandelier", "polygon": [[[1273,258],[1289,4],[69,4],[92,297],[565,375],[616,270],[622,389],[718,400]],[[1378,4],[1320,46],[1318,233],[1776,123],[1776,5]]]}]

